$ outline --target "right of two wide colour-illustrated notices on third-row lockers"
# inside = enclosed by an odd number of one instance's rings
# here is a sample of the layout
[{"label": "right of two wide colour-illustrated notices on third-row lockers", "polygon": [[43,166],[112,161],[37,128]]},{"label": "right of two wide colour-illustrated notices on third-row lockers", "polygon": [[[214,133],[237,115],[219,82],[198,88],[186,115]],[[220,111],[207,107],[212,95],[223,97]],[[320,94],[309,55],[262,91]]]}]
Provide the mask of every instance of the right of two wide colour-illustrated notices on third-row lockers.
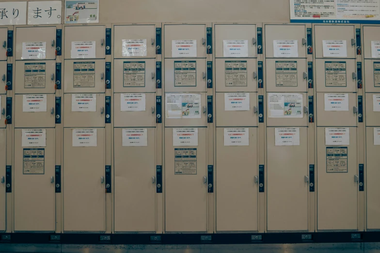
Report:
[{"label": "right of two wide colour-illustrated notices on third-row lockers", "polygon": [[303,118],[303,95],[268,93],[269,118]]}]

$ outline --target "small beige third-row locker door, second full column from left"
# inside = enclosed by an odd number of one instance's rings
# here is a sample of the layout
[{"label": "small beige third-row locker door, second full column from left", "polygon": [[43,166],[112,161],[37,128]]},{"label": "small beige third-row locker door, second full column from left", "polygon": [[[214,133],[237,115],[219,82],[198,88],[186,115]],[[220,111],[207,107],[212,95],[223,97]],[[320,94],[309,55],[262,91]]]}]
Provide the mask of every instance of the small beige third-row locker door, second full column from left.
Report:
[{"label": "small beige third-row locker door, second full column from left", "polygon": [[[91,96],[91,97],[89,97]],[[94,102],[94,98],[96,101]],[[85,109],[79,109],[83,100],[91,100]],[[64,127],[104,127],[104,94],[66,94],[64,95]]]}]

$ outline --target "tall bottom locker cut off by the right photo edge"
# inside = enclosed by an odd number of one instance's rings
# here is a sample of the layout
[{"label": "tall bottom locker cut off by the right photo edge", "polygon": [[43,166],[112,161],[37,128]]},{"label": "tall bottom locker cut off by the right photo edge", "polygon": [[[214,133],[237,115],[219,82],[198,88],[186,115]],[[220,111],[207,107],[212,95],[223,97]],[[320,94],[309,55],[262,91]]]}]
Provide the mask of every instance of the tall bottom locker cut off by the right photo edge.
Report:
[{"label": "tall bottom locker cut off by the right photo edge", "polygon": [[380,202],[379,202],[379,163],[380,143],[379,131],[376,131],[376,142],[374,139],[374,128],[366,127],[366,191],[367,191],[367,229],[380,229]]}]

